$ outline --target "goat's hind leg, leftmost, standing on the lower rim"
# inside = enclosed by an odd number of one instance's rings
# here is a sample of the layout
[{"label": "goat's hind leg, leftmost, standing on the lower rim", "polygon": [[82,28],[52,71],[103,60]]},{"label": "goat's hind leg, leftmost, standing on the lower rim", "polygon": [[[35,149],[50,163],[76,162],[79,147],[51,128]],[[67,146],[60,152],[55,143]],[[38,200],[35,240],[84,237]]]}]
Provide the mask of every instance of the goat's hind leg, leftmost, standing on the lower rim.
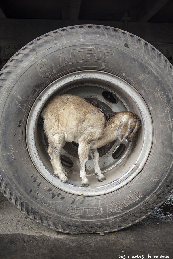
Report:
[{"label": "goat's hind leg, leftmost, standing on the lower rim", "polygon": [[60,141],[58,136],[53,136],[52,140],[54,138],[56,139],[56,144],[55,144],[55,141],[53,143],[52,142],[49,143],[48,154],[51,158],[50,162],[53,167],[54,175],[56,175],[61,180],[61,182],[65,183],[68,180],[66,177],[68,174],[63,169],[61,164],[61,159],[60,159],[60,150],[64,142],[63,140]]}]

